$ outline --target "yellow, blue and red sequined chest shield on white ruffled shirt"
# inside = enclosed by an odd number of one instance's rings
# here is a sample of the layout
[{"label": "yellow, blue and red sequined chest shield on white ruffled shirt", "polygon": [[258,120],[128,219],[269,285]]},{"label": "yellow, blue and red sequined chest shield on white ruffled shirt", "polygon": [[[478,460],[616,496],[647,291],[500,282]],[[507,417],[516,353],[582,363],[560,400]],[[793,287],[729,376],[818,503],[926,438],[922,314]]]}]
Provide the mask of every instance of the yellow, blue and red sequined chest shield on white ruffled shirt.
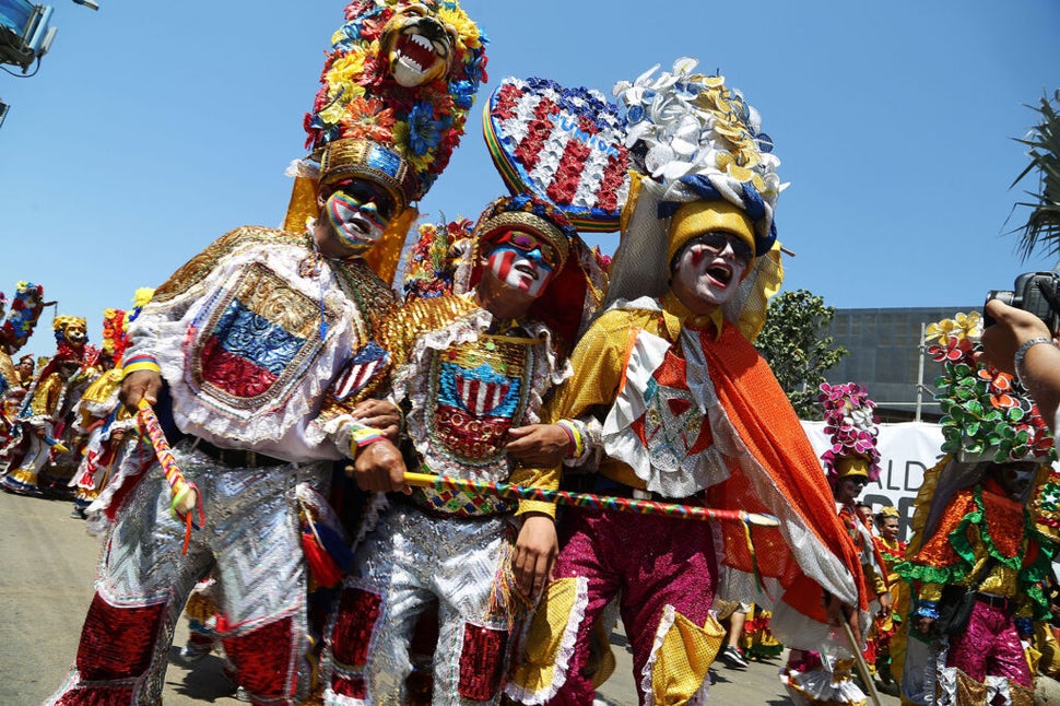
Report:
[{"label": "yellow, blue and red sequined chest shield on white ruffled shirt", "polygon": [[237,412],[276,403],[320,351],[321,317],[328,326],[338,318],[267,266],[251,264],[192,323],[193,385]]}]

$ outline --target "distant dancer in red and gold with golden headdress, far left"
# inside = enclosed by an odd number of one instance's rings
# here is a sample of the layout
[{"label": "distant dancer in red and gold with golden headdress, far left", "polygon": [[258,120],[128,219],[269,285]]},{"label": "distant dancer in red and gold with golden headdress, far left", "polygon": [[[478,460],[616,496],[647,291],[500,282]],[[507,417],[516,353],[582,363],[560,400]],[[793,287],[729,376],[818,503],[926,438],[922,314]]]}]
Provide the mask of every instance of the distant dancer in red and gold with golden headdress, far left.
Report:
[{"label": "distant dancer in red and gold with golden headdress, far left", "polygon": [[11,468],[0,480],[3,490],[19,495],[39,497],[43,492],[38,478],[58,442],[62,411],[70,391],[71,380],[84,363],[85,320],[76,316],[57,316],[52,322],[56,336],[56,354],[51,357],[33,388],[26,392],[27,401],[19,414],[22,425],[22,450],[11,455]]}]

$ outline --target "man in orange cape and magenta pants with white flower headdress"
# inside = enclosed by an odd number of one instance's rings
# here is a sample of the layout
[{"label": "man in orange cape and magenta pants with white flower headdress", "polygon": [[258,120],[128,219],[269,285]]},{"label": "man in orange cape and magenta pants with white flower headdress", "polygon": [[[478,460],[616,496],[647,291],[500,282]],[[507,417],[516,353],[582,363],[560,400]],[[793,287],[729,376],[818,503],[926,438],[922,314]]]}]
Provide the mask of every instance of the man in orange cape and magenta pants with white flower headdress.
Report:
[{"label": "man in orange cape and magenta pants with white flower headdress", "polygon": [[774,632],[794,647],[833,639],[825,592],[835,616],[840,603],[868,607],[813,450],[749,343],[781,275],[778,160],[757,113],[695,64],[615,87],[636,174],[614,305],[575,349],[575,375],[549,415],[561,431],[585,414],[604,419],[604,494],[768,513],[780,526],[749,542],[738,523],[570,508],[555,580],[506,689],[522,703],[592,701],[593,623],[616,595],[641,703],[704,697],[723,638],[716,595],[776,600]]}]

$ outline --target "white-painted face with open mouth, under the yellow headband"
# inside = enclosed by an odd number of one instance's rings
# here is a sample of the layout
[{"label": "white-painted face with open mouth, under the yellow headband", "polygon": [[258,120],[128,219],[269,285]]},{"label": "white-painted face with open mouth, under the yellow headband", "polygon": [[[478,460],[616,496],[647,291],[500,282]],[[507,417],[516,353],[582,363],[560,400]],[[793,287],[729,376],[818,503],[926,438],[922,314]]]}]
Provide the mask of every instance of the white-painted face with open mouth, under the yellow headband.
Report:
[{"label": "white-painted face with open mouth, under the yellow headband", "polygon": [[740,239],[723,235],[728,244],[721,249],[693,238],[674,264],[674,293],[695,314],[709,314],[732,298],[747,269],[749,261],[733,250]]}]

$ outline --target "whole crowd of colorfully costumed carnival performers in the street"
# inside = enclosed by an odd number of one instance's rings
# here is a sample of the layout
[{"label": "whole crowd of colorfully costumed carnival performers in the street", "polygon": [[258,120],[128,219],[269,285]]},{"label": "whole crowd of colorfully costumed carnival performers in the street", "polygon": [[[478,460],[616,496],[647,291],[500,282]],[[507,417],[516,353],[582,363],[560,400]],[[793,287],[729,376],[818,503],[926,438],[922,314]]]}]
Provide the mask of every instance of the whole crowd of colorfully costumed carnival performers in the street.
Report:
[{"label": "whole crowd of colorfully costumed carnival performers in the street", "polygon": [[[752,345],[785,185],[740,92],[693,59],[615,103],[505,79],[483,123],[507,196],[420,225],[396,282],[486,39],[450,0],[356,0],[332,42],[282,228],[223,235],[98,350],[56,317],[34,381],[5,364],[3,487],[43,493],[75,427],[78,511],[105,529],[48,703],[160,703],[186,608],[185,655],[223,648],[256,704],[590,704],[617,619],[644,704],[703,703],[747,635],[789,648],[801,703],[876,681],[1028,703],[1051,436],[950,321],[945,458],[910,546],[893,508],[872,531],[867,391],[823,387],[818,458]],[[613,261],[582,239],[616,230]]]}]

